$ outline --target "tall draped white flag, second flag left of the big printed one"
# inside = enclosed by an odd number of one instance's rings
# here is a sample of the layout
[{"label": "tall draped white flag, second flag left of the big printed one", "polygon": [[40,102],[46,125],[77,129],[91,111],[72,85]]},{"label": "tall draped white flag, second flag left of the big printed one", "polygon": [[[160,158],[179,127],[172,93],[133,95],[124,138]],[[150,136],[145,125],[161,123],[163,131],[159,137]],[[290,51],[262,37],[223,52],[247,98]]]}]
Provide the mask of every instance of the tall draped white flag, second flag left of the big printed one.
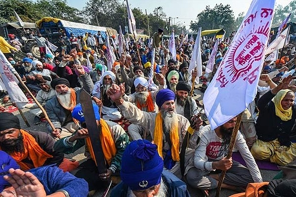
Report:
[{"label": "tall draped white flag, second flag left of the big printed one", "polygon": [[202,53],[201,53],[201,33],[202,28],[198,28],[197,36],[194,43],[194,48],[188,68],[189,75],[192,74],[192,71],[196,68],[197,70],[197,77],[195,78],[195,82],[199,83],[199,77],[202,76],[203,70],[202,70]]}]

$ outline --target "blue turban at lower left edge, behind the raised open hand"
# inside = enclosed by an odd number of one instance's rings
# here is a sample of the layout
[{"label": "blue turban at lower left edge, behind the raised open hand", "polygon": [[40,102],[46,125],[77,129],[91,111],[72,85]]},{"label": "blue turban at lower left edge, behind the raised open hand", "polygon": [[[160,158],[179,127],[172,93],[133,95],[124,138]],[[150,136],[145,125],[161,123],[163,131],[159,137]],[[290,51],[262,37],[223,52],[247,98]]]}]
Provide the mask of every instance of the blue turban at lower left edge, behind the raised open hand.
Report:
[{"label": "blue turban at lower left edge, behind the raised open hand", "polygon": [[[0,151],[0,173],[8,172],[10,168],[19,169],[20,166],[16,163],[16,161],[10,157],[4,151]],[[0,193],[3,191],[5,186],[10,185],[7,181],[3,179],[4,175],[0,175]]]}]

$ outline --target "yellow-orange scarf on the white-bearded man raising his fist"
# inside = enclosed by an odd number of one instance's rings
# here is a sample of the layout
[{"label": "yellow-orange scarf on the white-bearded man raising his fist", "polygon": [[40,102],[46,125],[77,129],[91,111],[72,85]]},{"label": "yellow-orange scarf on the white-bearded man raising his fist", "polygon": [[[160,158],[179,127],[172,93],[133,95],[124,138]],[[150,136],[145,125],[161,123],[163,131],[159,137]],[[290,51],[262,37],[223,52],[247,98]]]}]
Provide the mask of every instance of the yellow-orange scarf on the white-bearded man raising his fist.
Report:
[{"label": "yellow-orange scarf on the white-bearded man raising his fist", "polygon": [[[179,142],[179,134],[178,134],[178,125],[177,122],[169,131],[169,137],[171,141],[171,158],[174,161],[179,161],[179,150],[180,150],[180,142]],[[154,144],[157,145],[158,154],[163,157],[163,118],[161,113],[159,112],[155,118],[155,128],[154,128]]]}]

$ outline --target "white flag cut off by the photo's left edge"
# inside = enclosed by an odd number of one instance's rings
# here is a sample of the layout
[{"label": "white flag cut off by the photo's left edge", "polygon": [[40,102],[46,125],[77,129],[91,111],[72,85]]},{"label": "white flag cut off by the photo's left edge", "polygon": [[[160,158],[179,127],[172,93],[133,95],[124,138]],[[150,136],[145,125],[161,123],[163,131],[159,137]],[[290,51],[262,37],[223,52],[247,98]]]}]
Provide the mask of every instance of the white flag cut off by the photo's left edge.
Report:
[{"label": "white flag cut off by the photo's left edge", "polygon": [[14,73],[16,73],[16,71],[0,50],[0,77],[11,101],[14,102],[18,108],[22,109],[28,103],[28,99],[17,85],[16,81],[18,80],[14,76]]}]

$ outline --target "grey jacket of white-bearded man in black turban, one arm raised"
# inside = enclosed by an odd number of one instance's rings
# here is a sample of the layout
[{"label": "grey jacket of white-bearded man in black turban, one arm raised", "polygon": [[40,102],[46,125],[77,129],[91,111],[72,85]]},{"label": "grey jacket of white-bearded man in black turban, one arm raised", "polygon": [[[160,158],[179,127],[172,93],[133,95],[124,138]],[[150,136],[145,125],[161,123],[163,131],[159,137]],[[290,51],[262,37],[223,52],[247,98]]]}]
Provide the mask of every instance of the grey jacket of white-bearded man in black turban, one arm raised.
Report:
[{"label": "grey jacket of white-bearded man in black turban, one arm raised", "polygon": [[[81,76],[83,82],[83,88],[90,94],[93,89],[93,82],[88,74]],[[81,87],[75,87],[76,93],[76,103],[80,103],[80,91]],[[66,121],[66,112],[65,109],[60,105],[57,97],[51,98],[45,105],[46,113],[48,118],[51,120],[52,124],[55,128],[62,129],[62,126],[65,124]],[[52,129],[48,122],[46,122],[47,131],[49,133],[52,132]]]}]

